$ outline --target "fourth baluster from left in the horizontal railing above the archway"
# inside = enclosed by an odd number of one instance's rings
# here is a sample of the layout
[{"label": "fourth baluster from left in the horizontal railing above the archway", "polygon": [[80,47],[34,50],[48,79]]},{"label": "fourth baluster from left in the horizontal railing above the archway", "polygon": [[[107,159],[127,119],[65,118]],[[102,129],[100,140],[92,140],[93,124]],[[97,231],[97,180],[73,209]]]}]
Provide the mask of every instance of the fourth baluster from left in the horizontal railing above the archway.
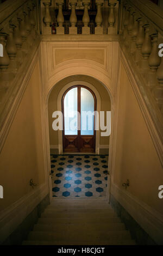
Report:
[{"label": "fourth baluster from left in the horizontal railing above the archway", "polygon": [[82,28],[82,34],[83,35],[89,35],[90,34],[90,28],[88,27],[88,24],[90,22],[90,16],[88,13],[88,8],[90,5],[91,0],[83,0],[83,5],[84,5],[84,15],[83,15],[83,23],[84,27]]}]

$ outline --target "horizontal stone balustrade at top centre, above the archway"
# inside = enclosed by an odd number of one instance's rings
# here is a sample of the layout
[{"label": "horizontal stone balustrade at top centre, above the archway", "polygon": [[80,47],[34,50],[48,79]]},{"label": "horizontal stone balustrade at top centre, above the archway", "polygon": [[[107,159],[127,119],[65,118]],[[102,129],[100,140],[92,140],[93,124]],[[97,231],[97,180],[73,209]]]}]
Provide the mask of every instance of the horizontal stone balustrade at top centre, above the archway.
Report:
[{"label": "horizontal stone balustrade at top centre, above the archway", "polygon": [[[104,3],[105,2],[105,3]],[[83,19],[78,20],[77,0],[69,0],[71,7],[71,14],[69,20],[65,20],[63,5],[64,0],[41,0],[41,32],[43,35],[51,34],[80,34],[80,29],[78,26],[82,27],[82,34],[110,34],[117,35],[118,28],[118,5],[117,0],[96,0],[97,10],[95,11],[95,20],[90,21],[90,3],[91,0],[82,0],[82,11]],[[102,8],[107,8],[109,10],[108,16],[107,12],[102,10]],[[83,10],[84,9],[84,10]],[[80,13],[81,14],[81,13]],[[94,15],[94,14],[93,14]],[[107,19],[107,28],[104,28],[103,20]],[[93,27],[91,29],[93,22]],[[106,23],[105,23],[106,24]]]}]

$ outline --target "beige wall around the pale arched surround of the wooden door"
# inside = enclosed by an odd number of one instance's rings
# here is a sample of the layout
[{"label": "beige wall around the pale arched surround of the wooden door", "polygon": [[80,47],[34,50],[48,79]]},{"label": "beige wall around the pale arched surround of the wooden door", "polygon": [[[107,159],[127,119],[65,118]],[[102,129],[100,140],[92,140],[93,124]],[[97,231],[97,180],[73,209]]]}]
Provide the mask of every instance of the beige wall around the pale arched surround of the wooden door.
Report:
[{"label": "beige wall around the pale arched surround of the wooden door", "polygon": [[[52,89],[51,94],[49,95],[49,100],[48,100],[48,118],[49,118],[49,141],[51,145],[58,145],[58,131],[54,131],[52,129],[52,123],[54,118],[52,118],[52,113],[54,111],[57,111],[57,97],[62,89],[67,83],[70,83],[72,81],[78,81],[82,80],[85,82],[91,83],[99,92],[99,95],[101,96],[101,111],[110,111],[111,110],[111,102],[110,102],[110,97],[105,89],[105,87],[95,80],[92,77],[89,76],[73,76],[73,77],[67,77],[64,80],[60,81],[57,83],[54,88]],[[101,145],[109,145],[109,137],[101,137],[100,138],[100,144]]]}]

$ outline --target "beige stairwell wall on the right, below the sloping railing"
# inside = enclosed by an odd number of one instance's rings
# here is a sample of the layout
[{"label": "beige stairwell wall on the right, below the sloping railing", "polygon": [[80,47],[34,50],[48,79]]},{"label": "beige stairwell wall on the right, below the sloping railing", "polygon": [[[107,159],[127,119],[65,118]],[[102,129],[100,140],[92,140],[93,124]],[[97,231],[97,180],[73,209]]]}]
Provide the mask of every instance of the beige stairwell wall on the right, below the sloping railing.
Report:
[{"label": "beige stairwell wall on the right, below the sloping railing", "polygon": [[129,179],[127,191],[162,214],[163,170],[122,63],[119,100],[114,182],[124,189]]}]

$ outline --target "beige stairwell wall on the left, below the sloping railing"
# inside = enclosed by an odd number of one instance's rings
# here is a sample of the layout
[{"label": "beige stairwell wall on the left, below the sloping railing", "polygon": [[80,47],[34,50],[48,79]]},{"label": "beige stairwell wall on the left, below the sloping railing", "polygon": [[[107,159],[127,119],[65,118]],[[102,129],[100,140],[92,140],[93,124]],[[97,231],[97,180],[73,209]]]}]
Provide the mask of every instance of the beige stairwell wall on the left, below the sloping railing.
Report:
[{"label": "beige stairwell wall on the left, below the sloping railing", "polygon": [[36,63],[0,154],[1,210],[33,191],[29,180],[45,181],[41,134],[40,73]]}]

